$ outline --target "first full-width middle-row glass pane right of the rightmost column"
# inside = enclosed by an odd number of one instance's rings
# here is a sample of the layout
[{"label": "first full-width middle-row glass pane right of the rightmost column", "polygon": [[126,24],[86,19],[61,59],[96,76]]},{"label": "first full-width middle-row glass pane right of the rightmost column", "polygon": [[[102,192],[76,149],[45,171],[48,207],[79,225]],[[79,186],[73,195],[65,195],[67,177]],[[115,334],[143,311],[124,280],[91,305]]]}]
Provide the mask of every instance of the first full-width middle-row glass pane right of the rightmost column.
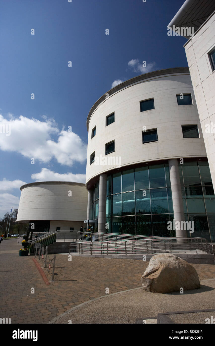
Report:
[{"label": "first full-width middle-row glass pane right of the rightmost column", "polygon": [[203,193],[201,186],[185,186],[188,213],[205,212]]}]

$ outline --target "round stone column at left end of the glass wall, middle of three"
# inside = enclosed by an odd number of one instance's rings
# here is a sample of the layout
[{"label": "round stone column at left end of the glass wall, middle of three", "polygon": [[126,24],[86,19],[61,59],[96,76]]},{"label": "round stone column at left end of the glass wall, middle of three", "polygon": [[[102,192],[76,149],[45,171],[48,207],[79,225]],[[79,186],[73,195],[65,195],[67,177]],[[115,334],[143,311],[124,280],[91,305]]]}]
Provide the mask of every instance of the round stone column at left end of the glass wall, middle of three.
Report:
[{"label": "round stone column at left end of the glass wall, middle of three", "polygon": [[106,224],[106,189],[107,174],[99,176],[99,215],[98,215],[98,232],[105,232]]}]

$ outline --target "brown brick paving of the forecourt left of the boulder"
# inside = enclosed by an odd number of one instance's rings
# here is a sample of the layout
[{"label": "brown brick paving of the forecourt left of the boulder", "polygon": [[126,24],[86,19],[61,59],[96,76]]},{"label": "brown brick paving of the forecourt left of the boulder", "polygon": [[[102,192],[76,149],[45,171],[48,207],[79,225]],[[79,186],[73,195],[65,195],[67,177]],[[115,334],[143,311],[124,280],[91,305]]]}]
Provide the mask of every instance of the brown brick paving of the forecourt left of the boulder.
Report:
[{"label": "brown brick paving of the forecourt left of the boulder", "polygon": [[[19,257],[20,244],[4,240],[0,245],[0,318],[11,323],[47,323],[64,311],[92,298],[141,286],[140,278],[148,265],[137,260],[72,257],[56,255],[55,281],[44,269],[50,282],[46,285],[32,256]],[[53,255],[49,255],[52,262]],[[38,260],[41,267],[43,260]],[[193,264],[200,280],[215,278],[215,265]],[[50,273],[49,273],[50,272]],[[35,293],[31,293],[31,288]]]}]

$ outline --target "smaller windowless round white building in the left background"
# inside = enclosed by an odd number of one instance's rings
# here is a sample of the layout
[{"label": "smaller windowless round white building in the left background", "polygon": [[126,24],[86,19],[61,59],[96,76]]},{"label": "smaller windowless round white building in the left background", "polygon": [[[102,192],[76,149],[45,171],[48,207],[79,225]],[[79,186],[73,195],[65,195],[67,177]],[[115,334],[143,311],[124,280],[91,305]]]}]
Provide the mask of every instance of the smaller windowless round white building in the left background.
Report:
[{"label": "smaller windowless round white building in the left background", "polygon": [[34,231],[80,230],[87,215],[85,184],[45,181],[21,186],[17,221]]}]

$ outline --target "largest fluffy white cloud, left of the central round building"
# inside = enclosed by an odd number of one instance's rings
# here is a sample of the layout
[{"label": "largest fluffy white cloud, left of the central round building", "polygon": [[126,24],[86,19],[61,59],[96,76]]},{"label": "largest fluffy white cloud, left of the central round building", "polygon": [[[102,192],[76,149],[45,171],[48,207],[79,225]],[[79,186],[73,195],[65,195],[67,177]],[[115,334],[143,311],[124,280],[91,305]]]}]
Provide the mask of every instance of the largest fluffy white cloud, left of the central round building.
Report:
[{"label": "largest fluffy white cloud, left of the central round building", "polygon": [[[74,132],[59,131],[54,119],[44,121],[23,116],[9,120],[0,115],[0,149],[22,154],[35,161],[49,162],[55,158],[62,165],[71,166],[75,161],[84,163],[87,145]],[[57,135],[57,141],[52,139]]]}]

